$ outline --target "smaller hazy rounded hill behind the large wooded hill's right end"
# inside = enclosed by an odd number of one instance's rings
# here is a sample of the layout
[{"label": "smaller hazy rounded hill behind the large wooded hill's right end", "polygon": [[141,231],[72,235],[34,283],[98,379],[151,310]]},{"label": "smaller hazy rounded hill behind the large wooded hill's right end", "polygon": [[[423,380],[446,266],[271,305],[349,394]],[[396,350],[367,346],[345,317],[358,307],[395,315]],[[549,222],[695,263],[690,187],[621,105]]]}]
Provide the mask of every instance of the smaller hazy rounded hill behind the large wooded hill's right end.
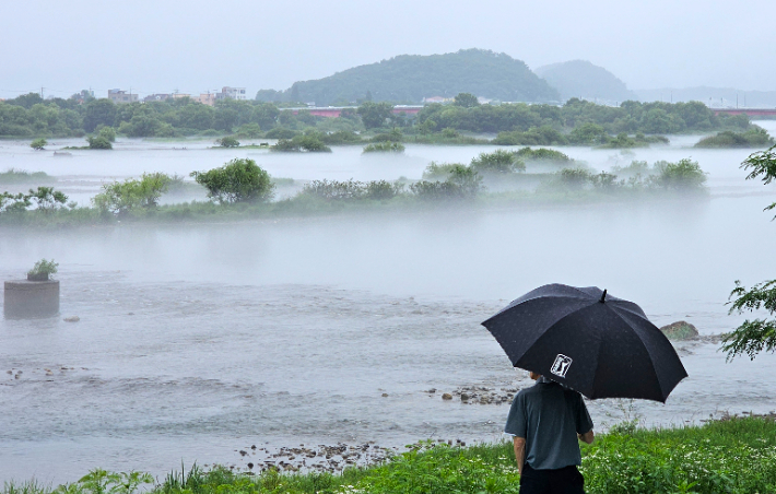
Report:
[{"label": "smaller hazy rounded hill behind the large wooded hill's right end", "polygon": [[611,103],[637,99],[636,94],[613,73],[587,60],[553,63],[534,72],[555,87],[564,102],[572,97]]}]

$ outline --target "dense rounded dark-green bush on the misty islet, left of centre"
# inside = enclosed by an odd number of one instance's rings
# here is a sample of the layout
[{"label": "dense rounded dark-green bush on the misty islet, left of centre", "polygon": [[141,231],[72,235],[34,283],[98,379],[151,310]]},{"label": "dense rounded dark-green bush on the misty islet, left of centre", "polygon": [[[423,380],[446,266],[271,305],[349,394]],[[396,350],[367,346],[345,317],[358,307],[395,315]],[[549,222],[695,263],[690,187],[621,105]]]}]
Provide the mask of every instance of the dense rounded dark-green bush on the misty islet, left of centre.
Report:
[{"label": "dense rounded dark-green bush on the misty islet, left of centre", "polygon": [[191,176],[208,189],[208,197],[222,204],[267,202],[274,193],[269,173],[249,158],[235,158],[219,168],[192,172]]}]

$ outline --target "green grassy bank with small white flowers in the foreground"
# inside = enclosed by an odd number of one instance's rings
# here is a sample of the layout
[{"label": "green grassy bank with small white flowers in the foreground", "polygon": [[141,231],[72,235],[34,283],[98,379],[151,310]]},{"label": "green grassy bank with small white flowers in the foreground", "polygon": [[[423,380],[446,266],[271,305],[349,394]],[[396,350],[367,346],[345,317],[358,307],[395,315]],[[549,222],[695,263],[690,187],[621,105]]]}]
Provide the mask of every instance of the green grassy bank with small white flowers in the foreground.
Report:
[{"label": "green grassy bank with small white flowers in the foreground", "polygon": [[[668,430],[615,426],[583,446],[586,491],[620,493],[776,492],[776,421],[732,419]],[[192,468],[154,483],[140,473],[93,470],[56,489],[34,481],[5,483],[0,494],[231,494],[231,493],[518,493],[512,444],[469,447],[420,443],[383,464],[351,468],[340,475],[266,471],[258,475],[224,468]],[[148,484],[143,489],[143,484]]]}]

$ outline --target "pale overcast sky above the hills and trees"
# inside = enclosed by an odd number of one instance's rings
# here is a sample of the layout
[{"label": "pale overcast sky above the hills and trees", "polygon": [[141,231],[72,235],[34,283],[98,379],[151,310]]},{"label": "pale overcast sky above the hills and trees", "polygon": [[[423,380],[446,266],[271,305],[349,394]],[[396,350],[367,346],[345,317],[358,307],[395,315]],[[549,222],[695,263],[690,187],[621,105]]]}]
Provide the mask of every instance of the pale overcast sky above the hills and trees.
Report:
[{"label": "pale overcast sky above the hills and trees", "polygon": [[402,54],[573,59],[630,89],[776,91],[776,1],[4,0],[0,97],[286,89]]}]

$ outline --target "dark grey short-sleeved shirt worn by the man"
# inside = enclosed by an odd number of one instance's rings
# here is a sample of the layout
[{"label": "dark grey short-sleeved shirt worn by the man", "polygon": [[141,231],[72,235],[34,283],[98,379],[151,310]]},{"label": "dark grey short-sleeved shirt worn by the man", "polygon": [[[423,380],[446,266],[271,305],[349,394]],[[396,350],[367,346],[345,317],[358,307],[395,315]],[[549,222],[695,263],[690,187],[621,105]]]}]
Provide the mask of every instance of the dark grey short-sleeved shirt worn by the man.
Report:
[{"label": "dark grey short-sleeved shirt worn by the man", "polygon": [[526,462],[534,470],[581,464],[577,433],[591,430],[581,395],[544,378],[517,393],[504,427],[526,438]]}]

